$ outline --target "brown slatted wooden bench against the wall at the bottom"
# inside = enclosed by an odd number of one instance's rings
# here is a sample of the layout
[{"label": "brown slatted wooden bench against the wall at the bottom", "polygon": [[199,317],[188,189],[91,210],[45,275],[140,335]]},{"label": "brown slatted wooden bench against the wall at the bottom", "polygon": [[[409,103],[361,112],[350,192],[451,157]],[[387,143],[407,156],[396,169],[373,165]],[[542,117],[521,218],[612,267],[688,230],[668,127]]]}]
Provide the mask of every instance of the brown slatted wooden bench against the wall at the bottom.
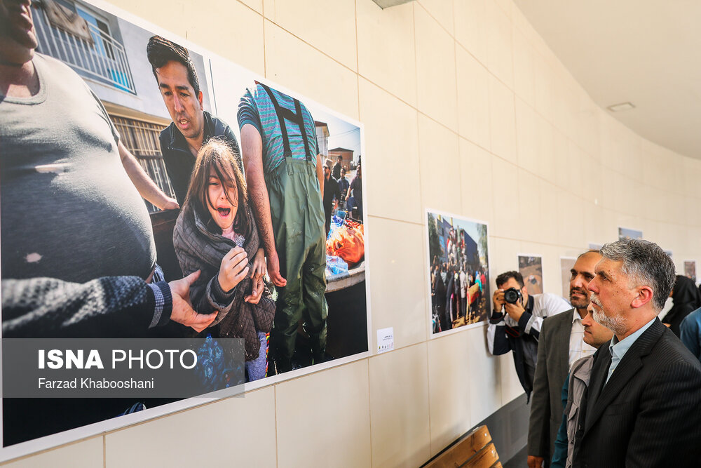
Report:
[{"label": "brown slatted wooden bench against the wall at the bottom", "polygon": [[426,468],[501,468],[489,429],[479,426],[423,465]]}]

